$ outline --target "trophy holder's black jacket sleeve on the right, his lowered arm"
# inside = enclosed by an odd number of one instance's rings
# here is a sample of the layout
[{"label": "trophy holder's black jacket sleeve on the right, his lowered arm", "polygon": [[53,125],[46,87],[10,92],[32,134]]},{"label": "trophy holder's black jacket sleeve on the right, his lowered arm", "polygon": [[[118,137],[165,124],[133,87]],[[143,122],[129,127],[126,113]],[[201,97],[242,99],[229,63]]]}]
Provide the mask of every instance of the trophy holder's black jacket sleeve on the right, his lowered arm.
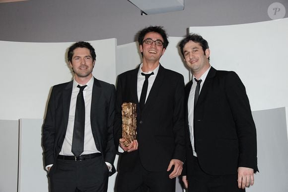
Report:
[{"label": "trophy holder's black jacket sleeve on the right, his lowered arm", "polygon": [[175,96],[174,96],[174,112],[173,112],[173,134],[175,141],[175,149],[173,159],[185,161],[185,129],[184,129],[184,78],[178,79]]}]

